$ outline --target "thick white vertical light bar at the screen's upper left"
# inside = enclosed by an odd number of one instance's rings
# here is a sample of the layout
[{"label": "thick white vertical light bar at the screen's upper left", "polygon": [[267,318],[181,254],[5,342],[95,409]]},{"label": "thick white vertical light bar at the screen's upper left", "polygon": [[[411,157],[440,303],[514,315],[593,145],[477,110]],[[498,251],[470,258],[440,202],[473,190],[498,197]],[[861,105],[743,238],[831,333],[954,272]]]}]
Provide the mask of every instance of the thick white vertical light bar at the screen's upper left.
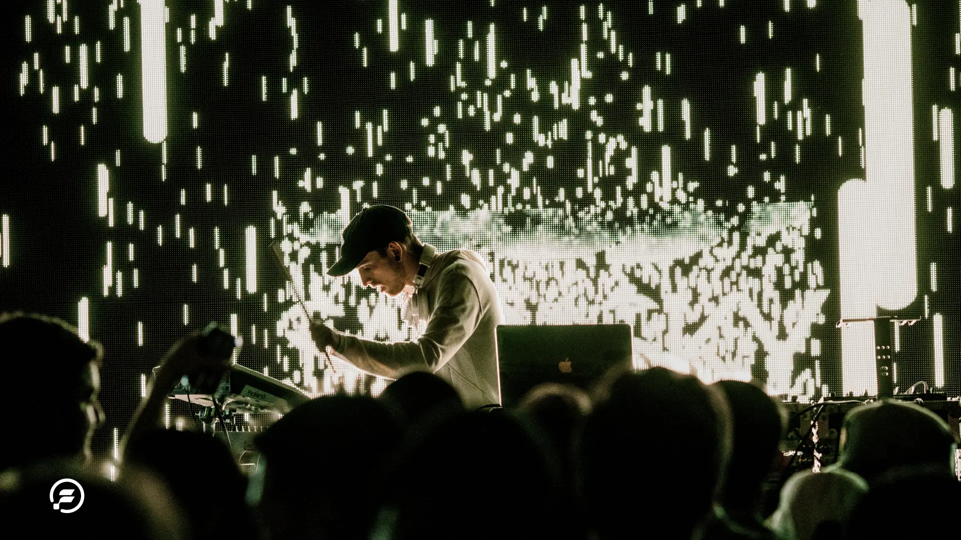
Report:
[{"label": "thick white vertical light bar at the screen's upper left", "polygon": [[[128,20],[124,17],[125,36]],[[129,38],[128,38],[129,40]],[[129,50],[129,44],[126,46]],[[163,0],[140,0],[140,72],[143,87],[143,136],[160,142],[167,136],[166,37]],[[119,75],[118,75],[119,77]],[[224,66],[224,86],[227,67]],[[117,95],[122,95],[117,80]]]}]

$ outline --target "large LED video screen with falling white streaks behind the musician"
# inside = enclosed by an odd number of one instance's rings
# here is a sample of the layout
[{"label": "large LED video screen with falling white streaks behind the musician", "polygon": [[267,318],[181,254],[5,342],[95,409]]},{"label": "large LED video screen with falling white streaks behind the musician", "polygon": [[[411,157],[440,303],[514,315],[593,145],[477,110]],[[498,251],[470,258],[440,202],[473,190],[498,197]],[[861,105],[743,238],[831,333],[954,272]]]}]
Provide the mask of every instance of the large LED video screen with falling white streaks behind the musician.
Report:
[{"label": "large LED video screen with falling white streaks behind the musician", "polygon": [[886,315],[918,320],[894,331],[899,391],[961,385],[956,0],[5,10],[0,307],[105,345],[103,457],[211,320],[311,395],[380,392],[326,366],[295,300],[416,337],[399,300],[325,275],[374,204],[480,253],[508,324],[630,324],[638,367],[873,395]]}]

